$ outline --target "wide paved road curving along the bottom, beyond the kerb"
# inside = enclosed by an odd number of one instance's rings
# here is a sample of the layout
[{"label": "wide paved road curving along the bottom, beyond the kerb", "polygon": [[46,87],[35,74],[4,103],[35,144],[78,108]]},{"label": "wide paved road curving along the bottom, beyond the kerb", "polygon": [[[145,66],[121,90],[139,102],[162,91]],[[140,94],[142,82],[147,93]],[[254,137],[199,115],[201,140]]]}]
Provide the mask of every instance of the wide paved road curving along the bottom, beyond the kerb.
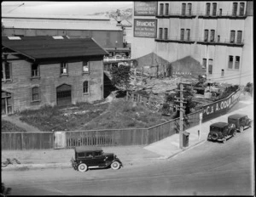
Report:
[{"label": "wide paved road curving along the bottom, beyond the kerb", "polygon": [[253,128],[225,144],[205,142],[169,160],[76,172],[2,172],[13,195],[253,195]]}]

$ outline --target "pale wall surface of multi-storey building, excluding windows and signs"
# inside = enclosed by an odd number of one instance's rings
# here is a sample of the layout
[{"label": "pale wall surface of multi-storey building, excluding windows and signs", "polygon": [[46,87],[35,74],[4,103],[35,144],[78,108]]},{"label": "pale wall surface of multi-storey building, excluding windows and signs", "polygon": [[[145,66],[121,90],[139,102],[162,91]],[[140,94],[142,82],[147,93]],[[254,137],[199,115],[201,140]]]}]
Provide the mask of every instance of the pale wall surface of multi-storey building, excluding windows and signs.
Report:
[{"label": "pale wall surface of multi-storey building, excluding windows and signs", "polygon": [[[207,75],[208,79],[216,82],[228,82],[233,84],[246,85],[247,82],[253,82],[253,16],[247,15],[247,18],[230,19],[230,18],[199,18],[199,15],[206,13],[206,3],[217,3],[217,15],[219,8],[222,8],[223,15],[232,14],[233,3],[235,2],[158,2],[158,10],[160,12],[160,3],[169,3],[169,14],[181,14],[182,3],[192,3],[192,14],[194,18],[152,18],[152,16],[136,16],[135,19],[157,19],[157,32],[159,28],[168,28],[168,39],[179,40],[181,29],[190,29],[190,39],[195,43],[183,42],[156,42],[154,38],[133,38],[131,43],[132,58],[140,58],[152,53],[152,51],[163,59],[174,62],[178,59],[191,56],[202,63],[202,59],[213,60],[212,75]],[[239,1],[237,14],[239,13],[239,3],[245,3],[244,12],[247,9],[245,1]],[[165,8],[164,8],[165,13]],[[232,45],[206,45],[197,43],[204,38],[204,30],[215,30],[215,41],[218,36],[220,42],[230,42],[230,31],[236,31],[235,41],[237,39],[237,31],[242,31],[243,46]],[[229,56],[240,57],[239,70],[228,69]],[[235,63],[234,63],[235,64]],[[207,68],[208,70],[208,68]],[[224,77],[221,76],[221,70],[224,70]],[[207,73],[208,74],[208,73]]]}]

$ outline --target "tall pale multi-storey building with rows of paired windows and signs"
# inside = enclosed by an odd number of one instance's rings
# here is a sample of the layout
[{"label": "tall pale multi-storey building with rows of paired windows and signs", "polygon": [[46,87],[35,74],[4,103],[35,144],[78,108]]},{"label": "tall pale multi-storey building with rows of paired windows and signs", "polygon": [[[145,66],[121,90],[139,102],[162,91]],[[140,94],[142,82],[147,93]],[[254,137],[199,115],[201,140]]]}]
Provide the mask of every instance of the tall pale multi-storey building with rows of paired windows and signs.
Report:
[{"label": "tall pale multi-storey building with rows of paired windows and signs", "polygon": [[191,57],[209,80],[253,82],[253,1],[135,2],[133,18],[131,58]]}]

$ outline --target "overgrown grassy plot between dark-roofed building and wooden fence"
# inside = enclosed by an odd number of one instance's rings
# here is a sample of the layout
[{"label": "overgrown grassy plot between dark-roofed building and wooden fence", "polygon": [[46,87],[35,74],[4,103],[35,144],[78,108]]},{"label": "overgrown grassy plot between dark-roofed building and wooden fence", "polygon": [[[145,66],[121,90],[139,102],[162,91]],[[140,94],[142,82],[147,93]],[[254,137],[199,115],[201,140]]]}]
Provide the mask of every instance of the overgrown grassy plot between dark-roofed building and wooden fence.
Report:
[{"label": "overgrown grassy plot between dark-roofed building and wooden fence", "polygon": [[[66,108],[46,105],[39,110],[24,110],[20,113],[20,121],[25,121],[41,131],[74,131],[145,128],[166,120],[161,119],[160,113],[124,98],[116,98],[112,103],[80,103]],[[2,124],[6,123],[2,121]]]}]

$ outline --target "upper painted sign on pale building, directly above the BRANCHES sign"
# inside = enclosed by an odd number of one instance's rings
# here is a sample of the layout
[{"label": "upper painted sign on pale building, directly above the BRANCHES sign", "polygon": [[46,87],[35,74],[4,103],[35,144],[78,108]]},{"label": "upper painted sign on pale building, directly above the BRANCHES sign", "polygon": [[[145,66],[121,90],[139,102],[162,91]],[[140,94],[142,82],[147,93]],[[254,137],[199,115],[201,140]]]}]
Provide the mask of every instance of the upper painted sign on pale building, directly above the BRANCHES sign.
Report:
[{"label": "upper painted sign on pale building, directly above the BRANCHES sign", "polygon": [[157,2],[134,2],[135,16],[157,15]]}]

